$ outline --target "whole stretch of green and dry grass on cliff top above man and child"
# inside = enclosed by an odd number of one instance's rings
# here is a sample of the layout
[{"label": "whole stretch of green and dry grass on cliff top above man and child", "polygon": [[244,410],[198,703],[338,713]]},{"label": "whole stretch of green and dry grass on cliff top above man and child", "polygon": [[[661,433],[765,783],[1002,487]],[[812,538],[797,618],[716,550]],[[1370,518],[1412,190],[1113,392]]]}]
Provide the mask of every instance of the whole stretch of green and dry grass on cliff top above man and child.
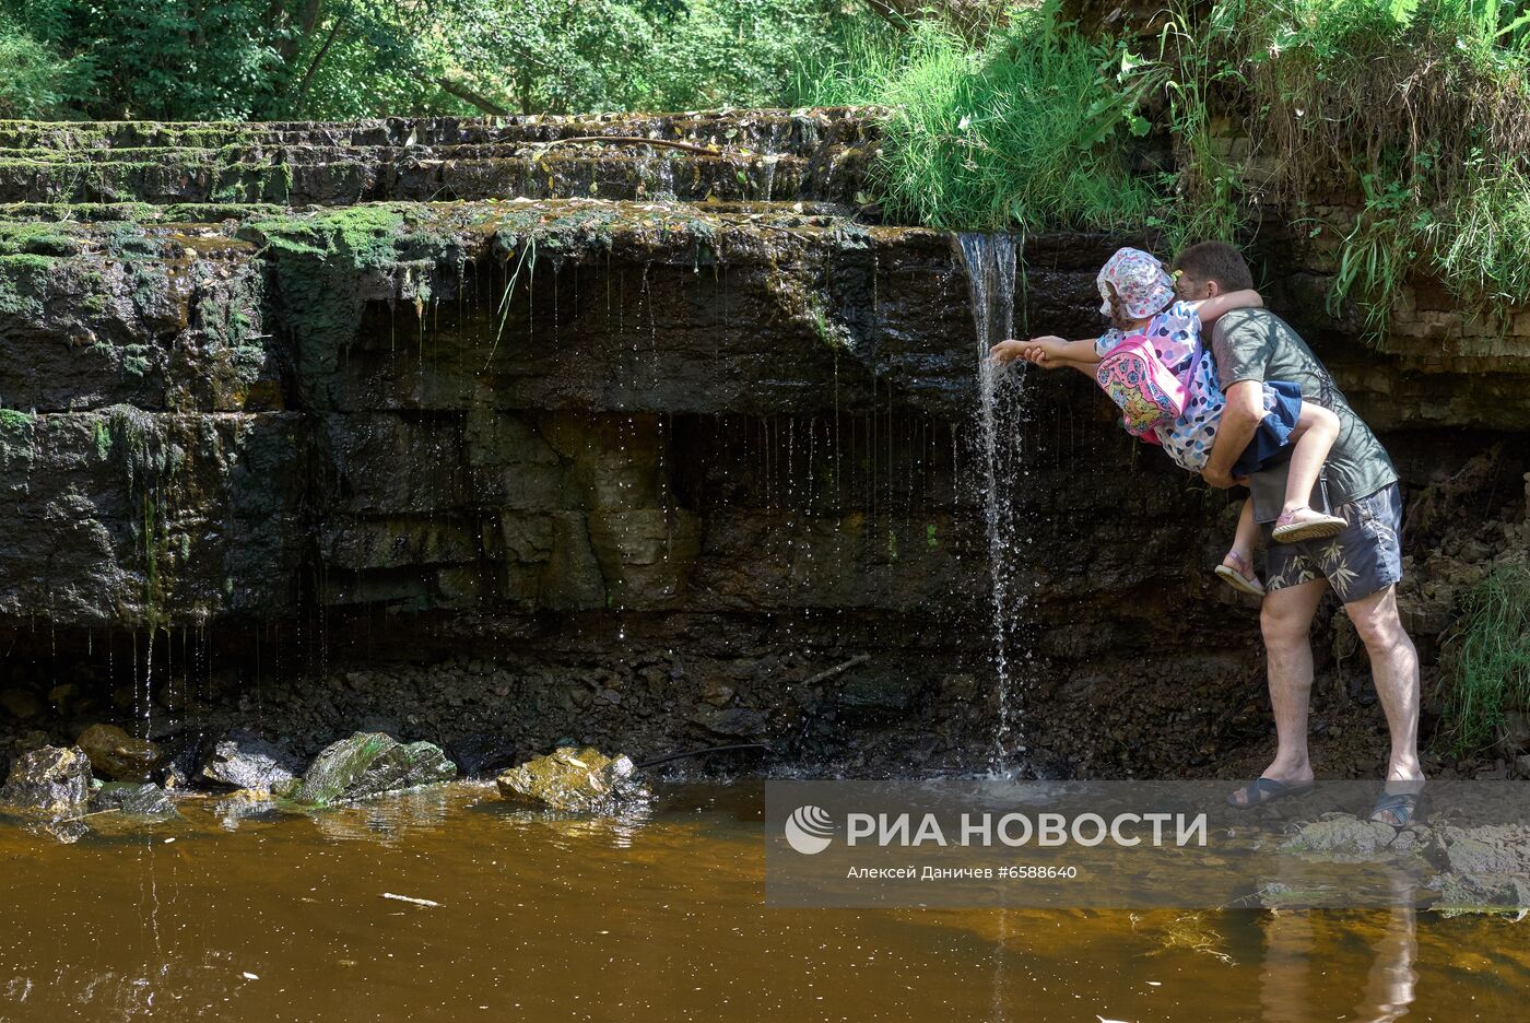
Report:
[{"label": "whole stretch of green and dry grass on cliff top above man and child", "polygon": [[[1375,330],[1411,275],[1469,306],[1530,301],[1530,14],[1493,0],[1170,5],[1157,37],[1092,43],[1056,5],[982,41],[848,23],[802,99],[895,107],[889,211],[950,229],[1157,228],[1247,240],[1261,205],[1356,203],[1333,301]],[[1239,127],[1241,125],[1241,127]],[[1245,132],[1258,180],[1215,142]],[[1144,145],[1143,141],[1152,145]],[[1152,165],[1174,151],[1172,170]],[[1250,183],[1253,182],[1253,183]],[[1337,194],[1336,194],[1337,190]]]}]

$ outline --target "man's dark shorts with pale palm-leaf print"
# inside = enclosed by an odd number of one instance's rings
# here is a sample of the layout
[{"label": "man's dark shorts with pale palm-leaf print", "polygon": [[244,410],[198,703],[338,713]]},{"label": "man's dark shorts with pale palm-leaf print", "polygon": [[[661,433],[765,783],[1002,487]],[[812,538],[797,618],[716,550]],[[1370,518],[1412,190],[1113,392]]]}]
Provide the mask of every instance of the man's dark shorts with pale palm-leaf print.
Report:
[{"label": "man's dark shorts with pale palm-leaf print", "polygon": [[1397,483],[1340,505],[1334,514],[1349,524],[1322,540],[1274,543],[1273,524],[1264,526],[1265,590],[1325,578],[1348,604],[1401,581],[1403,494]]}]

